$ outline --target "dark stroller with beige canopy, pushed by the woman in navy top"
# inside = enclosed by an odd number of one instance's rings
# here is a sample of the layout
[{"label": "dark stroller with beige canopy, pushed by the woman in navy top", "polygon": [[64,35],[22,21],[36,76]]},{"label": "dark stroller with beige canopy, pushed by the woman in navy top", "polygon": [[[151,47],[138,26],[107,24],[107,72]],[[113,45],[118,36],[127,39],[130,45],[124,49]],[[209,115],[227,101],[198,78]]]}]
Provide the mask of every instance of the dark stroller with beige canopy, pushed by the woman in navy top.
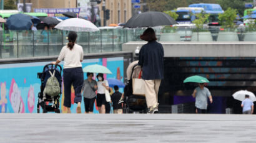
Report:
[{"label": "dark stroller with beige canopy, pushed by the woman in navy top", "polygon": [[130,63],[126,70],[128,81],[124,87],[123,113],[147,113],[145,96],[132,93],[132,78],[138,78],[140,70],[138,61]]}]

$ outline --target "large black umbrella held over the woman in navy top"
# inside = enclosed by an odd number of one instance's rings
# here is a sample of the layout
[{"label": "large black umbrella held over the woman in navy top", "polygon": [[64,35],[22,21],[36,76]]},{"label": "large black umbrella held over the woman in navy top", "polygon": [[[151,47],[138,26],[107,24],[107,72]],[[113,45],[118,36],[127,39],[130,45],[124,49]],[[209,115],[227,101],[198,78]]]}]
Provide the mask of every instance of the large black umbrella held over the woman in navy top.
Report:
[{"label": "large black umbrella held over the woman in navy top", "polygon": [[164,12],[149,11],[132,16],[124,27],[154,27],[159,25],[173,25],[177,22]]}]

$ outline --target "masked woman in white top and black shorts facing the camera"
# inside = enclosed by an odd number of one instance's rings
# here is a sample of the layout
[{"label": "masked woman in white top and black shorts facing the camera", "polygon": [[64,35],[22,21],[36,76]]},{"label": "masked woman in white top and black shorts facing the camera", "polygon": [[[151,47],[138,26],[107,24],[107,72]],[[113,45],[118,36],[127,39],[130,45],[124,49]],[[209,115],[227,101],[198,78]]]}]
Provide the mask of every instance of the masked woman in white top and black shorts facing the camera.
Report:
[{"label": "masked woman in white top and black shorts facing the camera", "polygon": [[105,114],[106,113],[106,97],[105,97],[105,90],[109,90],[109,82],[107,80],[104,80],[103,74],[99,73],[97,75],[97,85],[98,85],[98,90],[97,90],[97,107],[99,108],[99,113]]}]

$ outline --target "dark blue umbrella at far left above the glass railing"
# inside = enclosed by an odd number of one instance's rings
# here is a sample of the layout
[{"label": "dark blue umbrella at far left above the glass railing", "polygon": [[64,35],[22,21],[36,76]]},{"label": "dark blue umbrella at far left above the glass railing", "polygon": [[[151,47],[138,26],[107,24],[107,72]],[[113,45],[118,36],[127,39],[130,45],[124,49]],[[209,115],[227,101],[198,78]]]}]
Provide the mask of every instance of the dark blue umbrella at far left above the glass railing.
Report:
[{"label": "dark blue umbrella at far left above the glass railing", "polygon": [[9,30],[29,30],[32,21],[26,14],[13,14],[6,21]]}]

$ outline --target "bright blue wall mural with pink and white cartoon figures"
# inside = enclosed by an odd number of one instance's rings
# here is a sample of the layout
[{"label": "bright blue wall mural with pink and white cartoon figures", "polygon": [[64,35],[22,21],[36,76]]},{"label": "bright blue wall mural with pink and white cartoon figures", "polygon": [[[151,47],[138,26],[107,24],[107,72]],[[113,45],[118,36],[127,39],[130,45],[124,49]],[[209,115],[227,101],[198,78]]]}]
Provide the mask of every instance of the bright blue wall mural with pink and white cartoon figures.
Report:
[{"label": "bright blue wall mural with pink and white cartoon figures", "polygon": [[[38,102],[37,95],[40,91],[41,81],[37,78],[37,73],[42,72],[44,65],[50,62],[35,63],[13,63],[0,65],[0,113],[36,113]],[[82,67],[87,65],[99,64],[104,65],[112,71],[112,75],[104,75],[106,78],[116,78],[123,81],[124,75],[124,58],[96,58],[83,60]],[[63,65],[61,62],[60,65]],[[84,73],[86,78],[86,73]],[[121,89],[120,91],[123,91]],[[76,113],[76,104],[74,104],[74,91],[72,95],[71,112]],[[61,95],[61,113],[66,113],[62,106],[64,91],[62,86]],[[84,103],[82,101],[82,107]],[[84,108],[82,108],[84,113]],[[94,113],[98,113],[94,106]]]}]

